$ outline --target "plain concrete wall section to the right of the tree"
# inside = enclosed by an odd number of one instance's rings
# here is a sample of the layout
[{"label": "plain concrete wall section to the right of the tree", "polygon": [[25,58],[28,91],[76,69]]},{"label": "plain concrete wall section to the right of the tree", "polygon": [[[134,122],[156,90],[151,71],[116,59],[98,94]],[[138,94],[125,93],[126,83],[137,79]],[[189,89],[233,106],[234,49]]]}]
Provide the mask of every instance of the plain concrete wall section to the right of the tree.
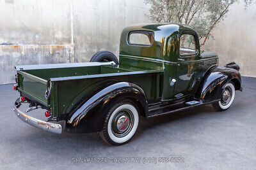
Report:
[{"label": "plain concrete wall section to the right of the tree", "polygon": [[204,49],[219,54],[220,66],[235,61],[243,76],[256,77],[256,4],[247,10],[242,1],[231,6],[212,34]]}]

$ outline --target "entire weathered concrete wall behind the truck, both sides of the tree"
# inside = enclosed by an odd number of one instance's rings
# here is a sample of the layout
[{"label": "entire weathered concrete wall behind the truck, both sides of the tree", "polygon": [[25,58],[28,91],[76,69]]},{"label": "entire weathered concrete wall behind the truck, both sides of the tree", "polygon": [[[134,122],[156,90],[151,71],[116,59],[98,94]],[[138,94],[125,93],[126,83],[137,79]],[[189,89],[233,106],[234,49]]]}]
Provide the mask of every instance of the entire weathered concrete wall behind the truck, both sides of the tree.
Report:
[{"label": "entire weathered concrete wall behind the truck, both sides of the tree", "polygon": [[[100,50],[118,55],[122,29],[149,22],[149,8],[143,0],[0,1],[0,84],[14,82],[15,65],[86,62]],[[256,76],[255,11],[232,6],[205,45],[220,65],[238,62],[244,76]]]}]

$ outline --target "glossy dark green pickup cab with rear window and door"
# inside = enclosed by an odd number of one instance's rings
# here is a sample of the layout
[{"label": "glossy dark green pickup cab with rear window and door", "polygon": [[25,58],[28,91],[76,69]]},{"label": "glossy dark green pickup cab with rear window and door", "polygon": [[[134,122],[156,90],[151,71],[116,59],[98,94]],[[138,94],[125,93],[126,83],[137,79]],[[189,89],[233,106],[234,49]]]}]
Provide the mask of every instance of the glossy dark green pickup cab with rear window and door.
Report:
[{"label": "glossy dark green pickup cab with rear window and door", "polygon": [[[198,34],[186,25],[152,24],[127,27],[120,40],[120,65],[164,70],[158,101],[193,96],[218,55],[201,55]],[[154,103],[154,101],[152,101]]]}]

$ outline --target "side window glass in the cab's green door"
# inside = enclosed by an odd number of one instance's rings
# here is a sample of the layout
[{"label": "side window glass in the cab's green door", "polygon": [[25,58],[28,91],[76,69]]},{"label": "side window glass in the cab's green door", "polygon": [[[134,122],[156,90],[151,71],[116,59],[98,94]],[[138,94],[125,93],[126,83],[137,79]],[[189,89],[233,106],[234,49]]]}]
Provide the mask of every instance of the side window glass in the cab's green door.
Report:
[{"label": "side window glass in the cab's green door", "polygon": [[183,34],[180,37],[180,55],[189,55],[196,53],[195,36]]}]

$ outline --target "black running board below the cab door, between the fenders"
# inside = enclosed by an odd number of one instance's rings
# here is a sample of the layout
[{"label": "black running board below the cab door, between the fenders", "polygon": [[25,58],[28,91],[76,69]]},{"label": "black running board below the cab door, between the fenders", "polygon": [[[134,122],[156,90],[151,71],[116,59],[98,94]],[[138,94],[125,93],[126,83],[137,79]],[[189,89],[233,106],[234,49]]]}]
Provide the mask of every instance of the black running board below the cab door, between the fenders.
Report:
[{"label": "black running board below the cab door, between the fenders", "polygon": [[201,101],[191,101],[191,102],[186,102],[186,103],[171,104],[169,106],[161,106],[159,108],[154,108],[152,110],[149,110],[148,118],[157,117],[157,116],[161,116],[161,115],[168,115],[171,113],[175,113],[177,111],[187,110],[189,108],[193,108],[196,106],[202,106],[204,104],[214,103],[216,101],[220,101],[220,100],[215,100],[215,101],[210,101],[210,102],[204,102],[202,100]]}]

